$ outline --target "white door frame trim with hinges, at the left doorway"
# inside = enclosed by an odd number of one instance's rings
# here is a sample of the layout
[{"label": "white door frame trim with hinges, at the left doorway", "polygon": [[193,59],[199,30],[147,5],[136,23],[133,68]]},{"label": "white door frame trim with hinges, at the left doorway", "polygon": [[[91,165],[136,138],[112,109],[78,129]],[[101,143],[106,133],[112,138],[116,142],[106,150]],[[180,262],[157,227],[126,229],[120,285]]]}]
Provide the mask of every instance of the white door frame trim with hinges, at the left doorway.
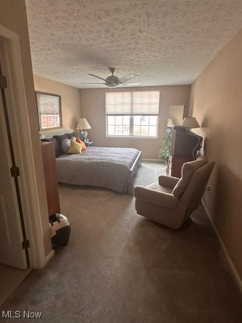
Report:
[{"label": "white door frame trim with hinges, at the left doorway", "polygon": [[[11,122],[11,134],[15,143],[16,163],[21,170],[19,187],[26,236],[30,242],[28,249],[30,266],[43,268],[53,257],[54,250],[45,255],[19,36],[12,30],[0,25],[0,38],[7,59],[7,71],[9,72],[7,78],[12,109],[8,110],[8,114]],[[17,107],[21,107],[21,109],[17,109]],[[21,149],[18,147],[21,147]]]}]

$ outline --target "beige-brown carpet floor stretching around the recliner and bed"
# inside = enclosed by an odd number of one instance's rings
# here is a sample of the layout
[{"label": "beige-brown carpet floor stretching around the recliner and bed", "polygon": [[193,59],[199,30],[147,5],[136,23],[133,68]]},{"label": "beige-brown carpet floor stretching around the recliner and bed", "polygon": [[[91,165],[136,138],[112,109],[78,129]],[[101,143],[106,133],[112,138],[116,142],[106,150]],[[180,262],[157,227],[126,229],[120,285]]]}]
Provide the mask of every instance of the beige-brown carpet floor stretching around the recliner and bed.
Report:
[{"label": "beige-brown carpet floor stretching around the recliner and bed", "polygon": [[[136,184],[164,173],[144,162]],[[53,323],[242,322],[241,295],[202,210],[170,230],[137,216],[133,196],[70,185],[59,194],[69,245],[32,271],[1,313],[41,311]]]}]

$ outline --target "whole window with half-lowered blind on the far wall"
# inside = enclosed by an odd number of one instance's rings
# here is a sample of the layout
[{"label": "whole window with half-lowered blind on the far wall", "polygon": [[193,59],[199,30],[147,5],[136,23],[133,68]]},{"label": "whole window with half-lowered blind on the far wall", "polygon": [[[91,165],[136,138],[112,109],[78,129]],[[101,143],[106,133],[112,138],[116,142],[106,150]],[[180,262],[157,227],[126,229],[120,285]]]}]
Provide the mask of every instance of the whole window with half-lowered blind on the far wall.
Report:
[{"label": "whole window with half-lowered blind on the far wall", "polygon": [[159,91],[106,92],[106,135],[157,137]]}]

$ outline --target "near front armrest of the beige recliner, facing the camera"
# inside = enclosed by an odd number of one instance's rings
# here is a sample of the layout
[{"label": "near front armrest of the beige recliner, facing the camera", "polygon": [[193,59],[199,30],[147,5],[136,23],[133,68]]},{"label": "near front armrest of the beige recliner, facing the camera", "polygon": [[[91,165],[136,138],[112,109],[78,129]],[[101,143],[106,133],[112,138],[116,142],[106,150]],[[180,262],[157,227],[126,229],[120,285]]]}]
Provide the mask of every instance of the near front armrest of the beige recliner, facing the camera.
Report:
[{"label": "near front armrest of the beige recliner, facing the camera", "polygon": [[170,209],[175,209],[179,201],[179,198],[174,196],[173,194],[153,190],[151,188],[143,186],[135,187],[135,197],[147,203],[167,207]]}]

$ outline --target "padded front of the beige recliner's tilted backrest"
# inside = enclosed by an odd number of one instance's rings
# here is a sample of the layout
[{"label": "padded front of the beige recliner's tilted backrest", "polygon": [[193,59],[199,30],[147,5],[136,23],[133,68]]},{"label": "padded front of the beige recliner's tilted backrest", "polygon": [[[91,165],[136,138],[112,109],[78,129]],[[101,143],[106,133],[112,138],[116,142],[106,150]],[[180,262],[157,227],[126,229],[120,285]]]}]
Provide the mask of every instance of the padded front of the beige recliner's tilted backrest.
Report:
[{"label": "padded front of the beige recliner's tilted backrest", "polygon": [[175,185],[172,194],[174,196],[181,196],[185,192],[189,182],[191,181],[194,172],[202,167],[203,165],[208,163],[207,157],[199,157],[197,160],[189,161],[183,165],[181,169],[181,178]]}]

